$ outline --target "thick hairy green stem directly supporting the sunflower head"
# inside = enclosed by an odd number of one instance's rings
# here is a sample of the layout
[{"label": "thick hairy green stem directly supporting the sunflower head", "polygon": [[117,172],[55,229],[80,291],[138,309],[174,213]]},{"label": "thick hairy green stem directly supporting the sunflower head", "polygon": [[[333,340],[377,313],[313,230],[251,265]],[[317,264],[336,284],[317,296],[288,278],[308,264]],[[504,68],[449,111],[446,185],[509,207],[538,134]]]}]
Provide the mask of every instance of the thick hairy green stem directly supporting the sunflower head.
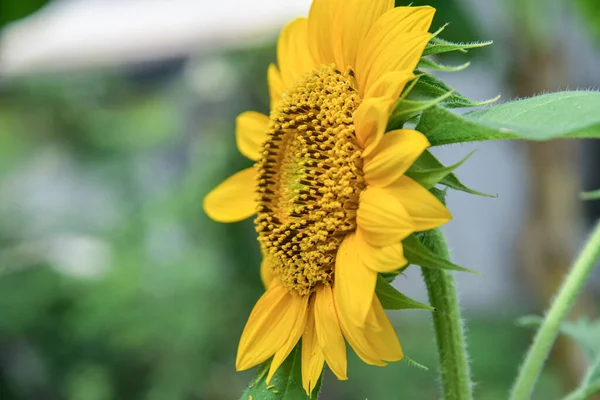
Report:
[{"label": "thick hairy green stem directly supporting the sunflower head", "polygon": [[[450,252],[439,229],[423,234],[423,244],[432,252],[449,260]],[[452,272],[442,269],[422,268],[433,313],[443,398],[446,400],[471,400],[473,398],[471,373],[458,294]]]}]

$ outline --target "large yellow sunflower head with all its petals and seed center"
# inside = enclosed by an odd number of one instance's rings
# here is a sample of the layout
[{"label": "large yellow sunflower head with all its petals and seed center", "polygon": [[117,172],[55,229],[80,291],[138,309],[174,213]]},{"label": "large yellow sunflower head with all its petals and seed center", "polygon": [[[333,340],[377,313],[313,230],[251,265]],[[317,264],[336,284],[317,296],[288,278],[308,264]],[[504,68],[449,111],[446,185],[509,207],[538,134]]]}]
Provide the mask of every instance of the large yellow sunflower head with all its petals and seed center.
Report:
[{"label": "large yellow sunflower head with all its petals and seed center", "polygon": [[267,79],[271,113],[237,118],[240,152],[256,162],[204,199],[219,222],[257,214],[266,292],[252,310],[236,368],[272,357],[268,380],[298,344],[310,395],[324,362],[347,379],[345,340],[366,363],[403,358],[375,295],[378,273],[406,265],[401,241],[450,213],[404,175],[429,147],[386,131],[415,70],[435,10],[393,0],[314,0],[290,22]]}]

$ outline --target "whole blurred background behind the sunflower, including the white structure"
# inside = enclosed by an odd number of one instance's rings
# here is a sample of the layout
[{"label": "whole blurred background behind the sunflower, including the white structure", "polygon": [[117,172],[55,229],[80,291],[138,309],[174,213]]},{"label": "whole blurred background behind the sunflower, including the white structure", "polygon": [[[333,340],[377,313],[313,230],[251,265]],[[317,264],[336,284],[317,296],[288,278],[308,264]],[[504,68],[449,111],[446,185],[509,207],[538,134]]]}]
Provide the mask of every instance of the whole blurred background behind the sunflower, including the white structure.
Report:
[{"label": "whole blurred background behind the sunflower, including the white structure", "polygon": [[[402,2],[397,2],[399,5]],[[434,28],[492,47],[443,74],[471,98],[600,86],[598,0],[432,0]],[[207,218],[203,196],[249,166],[234,120],[267,112],[278,30],[309,0],[0,0],[0,399],[230,400],[237,340],[261,294],[251,221]],[[600,111],[600,110],[599,110]],[[449,194],[445,231],[468,327],[476,397],[507,398],[539,314],[582,244],[600,188],[592,141],[436,149],[473,188]],[[426,301],[417,268],[395,283]],[[594,318],[595,275],[575,314]],[[424,311],[392,321],[405,362],[351,379],[326,400],[437,398]],[[600,339],[599,339],[600,340]],[[584,367],[559,342],[534,398],[558,399]]]}]

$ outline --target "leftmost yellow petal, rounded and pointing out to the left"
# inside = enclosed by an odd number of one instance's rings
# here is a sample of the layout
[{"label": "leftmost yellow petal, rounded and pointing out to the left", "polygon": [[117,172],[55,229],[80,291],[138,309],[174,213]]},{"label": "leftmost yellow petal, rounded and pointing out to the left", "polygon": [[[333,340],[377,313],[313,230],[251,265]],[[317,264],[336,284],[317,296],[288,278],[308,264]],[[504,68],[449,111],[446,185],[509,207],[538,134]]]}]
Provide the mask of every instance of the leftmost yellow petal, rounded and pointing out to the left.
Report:
[{"label": "leftmost yellow petal, rounded and pointing out to the left", "polygon": [[244,169],[227,178],[204,198],[204,211],[219,222],[237,222],[256,213],[256,170]]}]

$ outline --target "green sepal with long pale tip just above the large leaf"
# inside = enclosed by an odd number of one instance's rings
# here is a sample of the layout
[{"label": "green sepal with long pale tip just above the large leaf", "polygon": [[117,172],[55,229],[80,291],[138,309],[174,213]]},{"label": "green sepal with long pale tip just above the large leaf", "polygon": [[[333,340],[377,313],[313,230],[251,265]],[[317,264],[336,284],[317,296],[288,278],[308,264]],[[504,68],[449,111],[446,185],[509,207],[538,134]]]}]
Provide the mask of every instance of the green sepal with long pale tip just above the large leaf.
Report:
[{"label": "green sepal with long pale tip just above the large leaf", "polygon": [[443,81],[436,78],[435,76],[426,73],[421,73],[421,75],[419,75],[419,80],[418,82],[416,82],[413,90],[411,90],[408,98],[409,100],[434,99],[440,96],[444,96],[449,92],[452,92],[452,94],[441,102],[441,104],[446,108],[480,107],[492,104],[498,101],[498,99],[500,98],[500,96],[496,96],[493,99],[489,100],[473,101],[468,97],[465,97],[462,94],[456,92],[454,89],[450,88],[448,85],[446,85]]}]

